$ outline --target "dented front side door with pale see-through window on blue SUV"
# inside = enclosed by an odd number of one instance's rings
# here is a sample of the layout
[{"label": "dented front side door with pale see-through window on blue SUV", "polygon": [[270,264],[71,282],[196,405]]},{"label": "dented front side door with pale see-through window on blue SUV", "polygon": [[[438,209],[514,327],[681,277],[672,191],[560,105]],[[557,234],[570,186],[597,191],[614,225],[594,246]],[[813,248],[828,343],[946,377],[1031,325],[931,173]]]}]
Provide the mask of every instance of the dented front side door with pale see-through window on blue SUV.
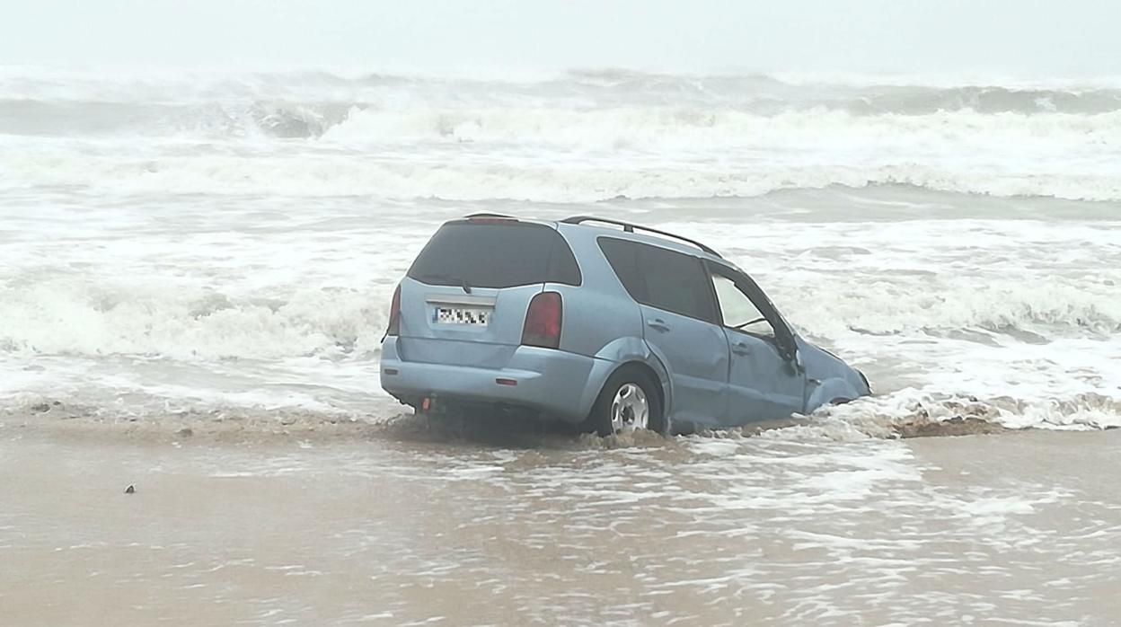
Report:
[{"label": "dented front side door with pale see-through window on blue SUV", "polygon": [[795,365],[794,336],[747,275],[708,264],[731,362],[729,425],[768,421],[804,409],[805,374]]}]

